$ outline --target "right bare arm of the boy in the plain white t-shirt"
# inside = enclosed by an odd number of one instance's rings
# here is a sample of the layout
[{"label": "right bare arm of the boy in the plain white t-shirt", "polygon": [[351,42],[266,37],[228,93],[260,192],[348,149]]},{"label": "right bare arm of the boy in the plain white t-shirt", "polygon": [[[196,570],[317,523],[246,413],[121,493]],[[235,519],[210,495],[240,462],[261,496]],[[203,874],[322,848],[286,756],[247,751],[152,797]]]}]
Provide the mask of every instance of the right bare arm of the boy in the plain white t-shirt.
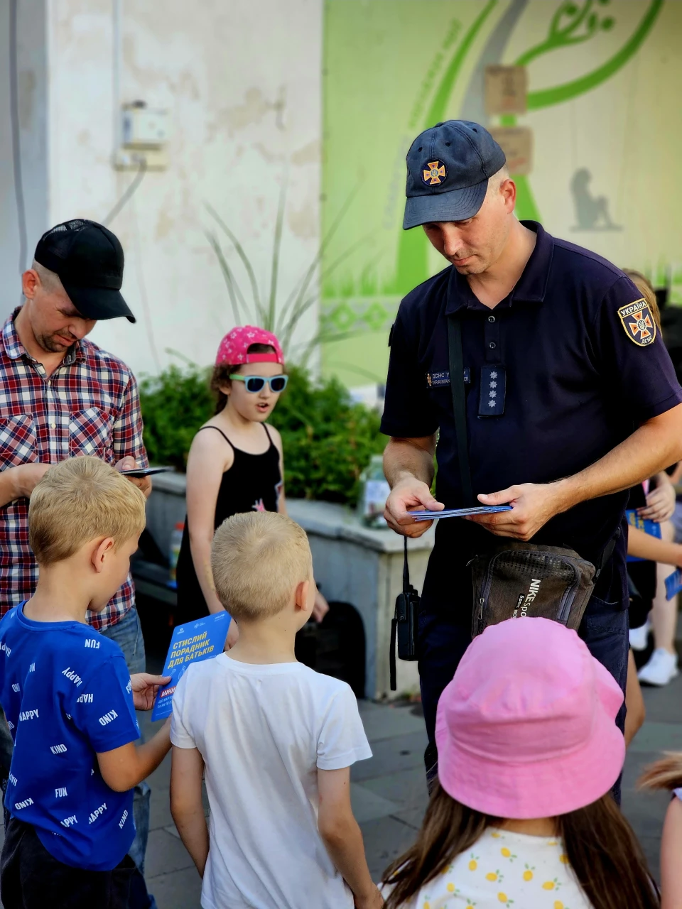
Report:
[{"label": "right bare arm of the boy in the plain white t-shirt", "polygon": [[317,829],[326,850],[353,891],[357,909],[375,909],[384,900],[372,883],[362,834],[350,806],[350,767],[317,770],[320,807]]}]

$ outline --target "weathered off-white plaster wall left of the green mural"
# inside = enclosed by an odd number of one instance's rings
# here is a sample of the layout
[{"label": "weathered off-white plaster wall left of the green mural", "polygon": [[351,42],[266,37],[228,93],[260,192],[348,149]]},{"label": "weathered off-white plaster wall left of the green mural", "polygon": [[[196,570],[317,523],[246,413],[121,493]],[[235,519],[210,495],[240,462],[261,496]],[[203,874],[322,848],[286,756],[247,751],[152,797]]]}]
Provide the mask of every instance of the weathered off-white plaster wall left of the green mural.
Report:
[{"label": "weathered off-white plaster wall left of the green mural", "polygon": [[[285,295],[316,253],[322,4],[120,2],[121,101],[168,108],[173,133],[168,169],[148,172],[110,225],[125,248],[124,293],[138,322],[102,323],[92,336],[137,373],[171,362],[167,347],[205,364],[234,317],[204,204],[238,235],[264,295],[285,178]],[[114,0],[47,0],[47,15],[48,220],[102,220],[135,176],[111,165]],[[238,269],[236,255],[229,261]],[[298,340],[315,324],[316,307]]]}]

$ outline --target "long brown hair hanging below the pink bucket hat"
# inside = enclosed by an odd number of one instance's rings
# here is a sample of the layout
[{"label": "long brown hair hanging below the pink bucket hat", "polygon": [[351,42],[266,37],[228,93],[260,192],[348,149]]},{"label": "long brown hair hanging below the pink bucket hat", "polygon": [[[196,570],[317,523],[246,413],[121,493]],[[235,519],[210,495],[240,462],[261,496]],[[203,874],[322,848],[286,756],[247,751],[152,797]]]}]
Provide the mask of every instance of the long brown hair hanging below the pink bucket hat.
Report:
[{"label": "long brown hair hanging below the pink bucket hat", "polygon": [[[568,865],[594,909],[659,909],[647,860],[610,793],[556,820]],[[496,825],[504,820],[456,802],[437,784],[416,843],[383,874],[384,884],[393,887],[386,909],[404,906],[456,855],[467,852],[486,827]]]}]

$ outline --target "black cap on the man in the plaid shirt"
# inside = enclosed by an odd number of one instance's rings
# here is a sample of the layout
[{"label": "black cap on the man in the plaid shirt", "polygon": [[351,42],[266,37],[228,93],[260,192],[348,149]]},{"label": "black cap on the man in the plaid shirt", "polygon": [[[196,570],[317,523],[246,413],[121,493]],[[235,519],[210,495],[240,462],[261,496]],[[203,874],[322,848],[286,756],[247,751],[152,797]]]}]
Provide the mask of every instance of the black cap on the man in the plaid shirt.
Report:
[{"label": "black cap on the man in the plaid shirt", "polygon": [[86,319],[125,315],[135,322],[121,296],[123,246],[103,225],[82,218],[56,225],[41,236],[34,258],[59,275],[69,299]]}]

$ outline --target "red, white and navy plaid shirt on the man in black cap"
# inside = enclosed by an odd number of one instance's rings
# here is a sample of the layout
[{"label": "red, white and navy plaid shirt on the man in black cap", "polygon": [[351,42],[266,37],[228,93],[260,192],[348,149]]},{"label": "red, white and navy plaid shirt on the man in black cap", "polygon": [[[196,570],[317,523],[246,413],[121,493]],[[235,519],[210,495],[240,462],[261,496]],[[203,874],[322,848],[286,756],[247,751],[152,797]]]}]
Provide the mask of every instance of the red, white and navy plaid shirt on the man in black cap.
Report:
[{"label": "red, white and navy plaid shirt on the man in black cap", "polygon": [[[147,465],[135,376],[91,341],[70,347],[49,376],[19,341],[15,313],[0,337],[0,470],[18,464],[55,464],[94,454],[115,464],[130,454]],[[0,617],[35,590],[38,569],[28,544],[28,499],[0,507]],[[135,602],[128,576],[95,628],[119,622]]]}]

